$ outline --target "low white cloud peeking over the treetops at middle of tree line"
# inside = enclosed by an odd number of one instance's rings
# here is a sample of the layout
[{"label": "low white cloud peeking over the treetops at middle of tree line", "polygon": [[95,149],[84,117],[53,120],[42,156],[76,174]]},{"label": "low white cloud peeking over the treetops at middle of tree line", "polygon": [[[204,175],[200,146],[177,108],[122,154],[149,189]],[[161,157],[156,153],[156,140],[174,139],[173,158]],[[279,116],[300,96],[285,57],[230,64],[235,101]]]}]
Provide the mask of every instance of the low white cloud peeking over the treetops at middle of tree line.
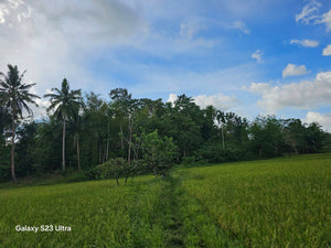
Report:
[{"label": "low white cloud peeking over the treetops at middle of tree line", "polygon": [[[169,98],[167,101],[173,104],[177,98],[178,96],[175,94],[169,94]],[[222,93],[211,96],[199,95],[192,98],[195,104],[203,109],[212,105],[217,109],[227,110],[239,105],[239,101],[235,96],[225,96]]]}]

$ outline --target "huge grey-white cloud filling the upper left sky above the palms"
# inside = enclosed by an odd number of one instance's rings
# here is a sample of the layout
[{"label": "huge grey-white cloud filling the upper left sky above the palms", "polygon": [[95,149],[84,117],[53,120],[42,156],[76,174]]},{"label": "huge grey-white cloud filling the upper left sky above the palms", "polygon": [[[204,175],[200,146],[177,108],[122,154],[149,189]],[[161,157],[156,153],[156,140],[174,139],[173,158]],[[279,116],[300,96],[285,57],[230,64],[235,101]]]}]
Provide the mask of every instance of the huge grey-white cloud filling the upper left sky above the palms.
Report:
[{"label": "huge grey-white cloud filling the upper left sky above the palms", "polygon": [[72,88],[99,90],[105,83],[86,68],[88,58],[114,45],[135,45],[146,32],[139,13],[118,0],[1,0],[0,71],[8,63],[26,68],[24,79],[36,83],[40,96],[63,77]]}]

